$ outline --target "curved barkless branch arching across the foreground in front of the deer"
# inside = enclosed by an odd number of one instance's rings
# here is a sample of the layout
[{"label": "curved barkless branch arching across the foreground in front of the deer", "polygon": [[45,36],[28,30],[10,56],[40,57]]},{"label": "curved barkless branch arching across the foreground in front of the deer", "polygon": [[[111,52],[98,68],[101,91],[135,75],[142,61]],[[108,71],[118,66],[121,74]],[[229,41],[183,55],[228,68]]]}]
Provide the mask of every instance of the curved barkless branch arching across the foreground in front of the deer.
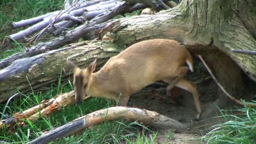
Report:
[{"label": "curved barkless branch arching across the foreground in front of the deer", "polygon": [[173,120],[157,112],[146,109],[138,109],[131,107],[110,107],[92,112],[83,117],[77,118],[72,122],[62,125],[48,133],[34,139],[27,144],[47,144],[51,141],[56,141],[64,136],[69,136],[74,133],[79,133],[86,128],[91,128],[95,125],[103,123],[105,120],[112,121],[118,119],[126,119],[130,121],[139,121],[146,125],[152,125],[155,128],[172,128],[177,131],[186,129],[186,125],[177,120]]}]

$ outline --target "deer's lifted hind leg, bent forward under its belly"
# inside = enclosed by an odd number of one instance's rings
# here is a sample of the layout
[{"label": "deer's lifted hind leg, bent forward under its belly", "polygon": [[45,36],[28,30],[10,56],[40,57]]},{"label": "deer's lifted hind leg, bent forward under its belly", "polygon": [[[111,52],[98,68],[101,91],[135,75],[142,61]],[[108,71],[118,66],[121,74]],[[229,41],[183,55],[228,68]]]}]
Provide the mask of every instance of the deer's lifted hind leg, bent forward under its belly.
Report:
[{"label": "deer's lifted hind leg, bent forward under its belly", "polygon": [[171,89],[176,85],[176,83],[179,82],[179,80],[181,80],[186,75],[188,70],[189,68],[186,66],[179,67],[176,70],[175,76],[163,80],[165,83],[169,83],[169,85],[166,87],[167,96],[171,97]]}]

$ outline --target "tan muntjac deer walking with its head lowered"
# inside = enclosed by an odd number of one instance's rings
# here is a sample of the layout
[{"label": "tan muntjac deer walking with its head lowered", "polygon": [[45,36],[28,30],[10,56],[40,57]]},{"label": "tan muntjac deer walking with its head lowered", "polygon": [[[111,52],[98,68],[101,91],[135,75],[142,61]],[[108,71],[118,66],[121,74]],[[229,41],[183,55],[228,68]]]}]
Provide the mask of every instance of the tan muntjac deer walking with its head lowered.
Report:
[{"label": "tan muntjac deer walking with its head lowered", "polygon": [[169,84],[166,88],[168,96],[174,86],[192,93],[198,112],[196,118],[200,119],[202,110],[195,83],[184,79],[189,69],[193,72],[192,56],[175,40],[154,39],[133,44],[110,58],[95,73],[96,60],[85,69],[76,67],[69,59],[67,64],[74,68],[77,104],[85,95],[90,95],[114,99],[118,106],[127,106],[131,94],[163,80]]}]

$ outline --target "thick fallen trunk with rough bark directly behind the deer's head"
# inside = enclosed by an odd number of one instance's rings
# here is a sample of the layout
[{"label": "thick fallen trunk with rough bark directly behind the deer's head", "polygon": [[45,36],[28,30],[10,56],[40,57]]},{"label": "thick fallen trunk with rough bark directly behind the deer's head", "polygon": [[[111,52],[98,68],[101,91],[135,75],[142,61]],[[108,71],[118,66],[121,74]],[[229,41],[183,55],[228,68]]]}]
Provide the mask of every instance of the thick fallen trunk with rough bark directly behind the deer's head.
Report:
[{"label": "thick fallen trunk with rough bark directly behind the deer's head", "polygon": [[9,67],[0,70],[0,102],[8,99],[9,95],[13,95],[16,88],[28,89],[29,83],[34,88],[37,85],[47,85],[48,81],[57,80],[62,68],[65,71],[70,70],[66,67],[67,58],[76,61],[76,64],[81,67],[86,67],[97,57],[99,66],[102,66],[110,57],[117,55],[123,49],[125,45],[109,42],[83,42],[31,58],[19,59]]}]

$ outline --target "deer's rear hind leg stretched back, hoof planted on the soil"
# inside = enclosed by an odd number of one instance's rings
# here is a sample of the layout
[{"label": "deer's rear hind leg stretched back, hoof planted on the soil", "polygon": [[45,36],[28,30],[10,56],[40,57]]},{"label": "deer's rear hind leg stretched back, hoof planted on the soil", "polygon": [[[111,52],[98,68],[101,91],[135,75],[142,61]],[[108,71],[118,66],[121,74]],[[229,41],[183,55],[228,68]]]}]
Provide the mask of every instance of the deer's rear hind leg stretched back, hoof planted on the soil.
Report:
[{"label": "deer's rear hind leg stretched back, hoof planted on the soil", "polygon": [[186,91],[189,91],[194,98],[195,101],[195,107],[197,109],[197,116],[196,119],[199,120],[201,115],[202,115],[202,109],[201,109],[201,104],[200,104],[200,100],[199,100],[199,95],[197,93],[197,88],[195,83],[189,81],[189,80],[185,80],[185,79],[181,79],[178,83],[176,83],[175,85],[176,87],[182,88]]}]

